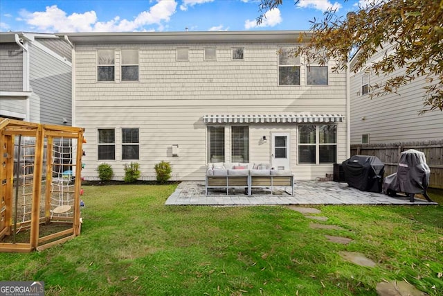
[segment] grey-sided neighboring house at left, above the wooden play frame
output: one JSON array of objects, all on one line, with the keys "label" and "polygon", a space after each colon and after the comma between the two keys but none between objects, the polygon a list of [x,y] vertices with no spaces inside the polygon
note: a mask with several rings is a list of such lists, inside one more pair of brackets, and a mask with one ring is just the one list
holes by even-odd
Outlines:
[{"label": "grey-sided neighboring house at left, above the wooden play frame", "polygon": [[0,33],[0,117],[71,125],[71,53],[53,34]]}]

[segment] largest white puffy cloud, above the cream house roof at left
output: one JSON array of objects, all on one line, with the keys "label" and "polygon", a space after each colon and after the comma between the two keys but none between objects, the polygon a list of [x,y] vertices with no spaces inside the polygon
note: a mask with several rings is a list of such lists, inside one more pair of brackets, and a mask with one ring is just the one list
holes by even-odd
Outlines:
[{"label": "largest white puffy cloud, above the cream house roof at left", "polygon": [[[146,31],[144,26],[157,25],[164,28],[163,21],[170,21],[174,15],[176,1],[159,0],[150,10],[143,11],[133,20],[120,19],[119,16],[109,21],[98,21],[96,12],[91,10],[84,13],[66,12],[57,6],[47,6],[43,12],[27,12],[22,10],[18,20],[26,21],[37,31],[44,32],[123,32]],[[151,31],[152,29],[150,29]]]}]

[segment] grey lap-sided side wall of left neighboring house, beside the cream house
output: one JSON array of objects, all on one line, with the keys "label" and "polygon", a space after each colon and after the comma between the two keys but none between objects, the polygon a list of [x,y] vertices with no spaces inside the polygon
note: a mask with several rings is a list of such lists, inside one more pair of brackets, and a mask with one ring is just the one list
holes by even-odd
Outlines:
[{"label": "grey lap-sided side wall of left neighboring house, beside the cream house", "polygon": [[71,65],[30,44],[30,121],[71,124]]}]

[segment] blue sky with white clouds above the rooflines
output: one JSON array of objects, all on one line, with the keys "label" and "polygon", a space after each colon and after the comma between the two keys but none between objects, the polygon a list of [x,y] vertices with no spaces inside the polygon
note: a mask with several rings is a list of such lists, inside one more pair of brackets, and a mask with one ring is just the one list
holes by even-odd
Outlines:
[{"label": "blue sky with white clouds above the rooflines", "polygon": [[1,0],[0,31],[134,32],[308,30],[328,7],[346,15],[370,0],[293,0],[266,12],[258,0]]}]

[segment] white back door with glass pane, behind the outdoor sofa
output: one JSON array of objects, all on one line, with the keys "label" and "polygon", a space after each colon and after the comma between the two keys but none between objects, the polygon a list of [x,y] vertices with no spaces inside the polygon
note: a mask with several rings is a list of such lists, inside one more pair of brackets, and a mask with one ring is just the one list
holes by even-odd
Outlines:
[{"label": "white back door with glass pane, behind the outdoor sofa", "polygon": [[290,170],[289,132],[272,133],[271,162],[275,170]]}]

